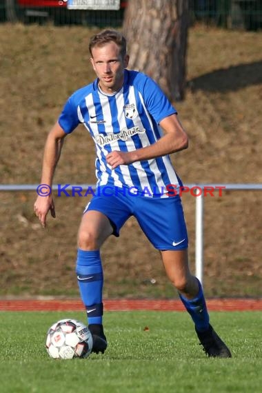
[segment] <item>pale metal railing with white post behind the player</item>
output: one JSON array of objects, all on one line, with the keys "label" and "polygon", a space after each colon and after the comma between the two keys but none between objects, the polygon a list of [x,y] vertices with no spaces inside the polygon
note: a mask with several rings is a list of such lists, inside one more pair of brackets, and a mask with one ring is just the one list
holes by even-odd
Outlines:
[{"label": "pale metal railing with white post behind the player", "polygon": [[[0,185],[0,191],[36,191],[36,184],[2,184]],[[62,186],[62,185],[61,185]],[[70,185],[68,190],[73,187],[80,187],[81,190],[88,190],[92,188],[95,190],[96,185],[94,184],[80,184],[80,185]],[[203,283],[203,268],[204,268],[204,190],[208,188],[209,190],[218,191],[239,191],[239,190],[253,190],[261,191],[261,184],[186,184],[184,187],[188,187],[190,190],[197,190],[196,208],[195,208],[195,274],[196,277]],[[52,190],[58,190],[58,185],[53,185]]]}]

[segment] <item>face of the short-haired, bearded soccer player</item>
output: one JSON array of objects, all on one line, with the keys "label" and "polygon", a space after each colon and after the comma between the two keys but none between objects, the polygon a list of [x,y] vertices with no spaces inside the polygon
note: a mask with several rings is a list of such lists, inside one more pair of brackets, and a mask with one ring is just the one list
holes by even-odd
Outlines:
[{"label": "face of the short-haired, bearded soccer player", "polygon": [[113,41],[92,48],[90,59],[94,72],[99,78],[99,86],[105,93],[117,92],[123,85],[123,70],[128,66],[129,57],[121,56],[120,48]]}]

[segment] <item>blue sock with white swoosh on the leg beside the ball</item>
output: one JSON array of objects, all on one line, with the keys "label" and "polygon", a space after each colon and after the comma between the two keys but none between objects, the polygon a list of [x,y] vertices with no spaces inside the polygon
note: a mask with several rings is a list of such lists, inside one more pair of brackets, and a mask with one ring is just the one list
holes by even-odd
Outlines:
[{"label": "blue sock with white swoosh on the leg beside the ball", "polygon": [[103,268],[99,250],[77,250],[77,280],[88,324],[102,323]]}]

